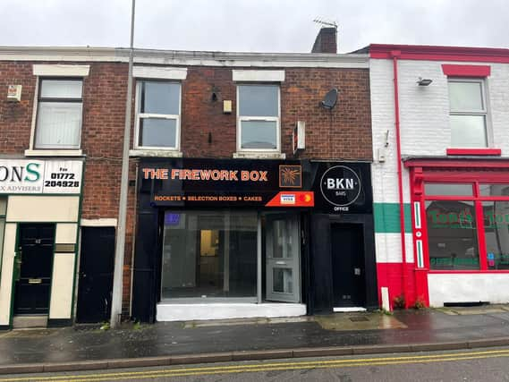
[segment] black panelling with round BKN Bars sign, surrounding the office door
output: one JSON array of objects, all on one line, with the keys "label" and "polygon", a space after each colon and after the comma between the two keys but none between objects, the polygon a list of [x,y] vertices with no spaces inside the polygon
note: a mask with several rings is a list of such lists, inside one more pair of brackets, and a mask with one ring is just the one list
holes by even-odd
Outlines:
[{"label": "black panelling with round BKN Bars sign, surrounding the office door", "polygon": [[[311,162],[315,207],[310,214],[310,314],[334,307],[332,225],[361,225],[363,233],[366,308],[378,307],[373,201],[369,163]],[[336,194],[337,193],[337,194]]]}]

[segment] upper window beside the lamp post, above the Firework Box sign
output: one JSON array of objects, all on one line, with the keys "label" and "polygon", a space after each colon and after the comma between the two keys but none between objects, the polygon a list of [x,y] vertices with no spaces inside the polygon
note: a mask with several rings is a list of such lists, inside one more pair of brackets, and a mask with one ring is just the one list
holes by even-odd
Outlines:
[{"label": "upper window beside the lamp post, above the Firework Box sign", "polygon": [[136,149],[180,148],[181,83],[137,82]]}]

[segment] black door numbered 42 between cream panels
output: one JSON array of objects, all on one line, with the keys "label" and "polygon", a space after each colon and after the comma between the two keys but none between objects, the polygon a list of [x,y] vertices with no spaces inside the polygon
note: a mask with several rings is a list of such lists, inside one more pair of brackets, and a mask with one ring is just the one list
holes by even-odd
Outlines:
[{"label": "black door numbered 42 between cream panels", "polygon": [[14,314],[47,314],[53,267],[54,224],[21,224],[15,264]]}]

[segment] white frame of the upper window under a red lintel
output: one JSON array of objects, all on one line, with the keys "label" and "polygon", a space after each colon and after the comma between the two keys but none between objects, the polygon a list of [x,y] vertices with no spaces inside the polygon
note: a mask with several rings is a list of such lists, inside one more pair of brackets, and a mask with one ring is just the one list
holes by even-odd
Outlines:
[{"label": "white frame of the upper window under a red lintel", "polygon": [[[481,111],[471,111],[471,110],[452,110],[451,107],[451,94],[449,92],[449,83],[456,82],[456,83],[479,83],[480,84],[480,93],[481,93],[481,102],[482,102],[482,109]],[[476,148],[471,149],[487,149],[492,146],[492,139],[491,139],[491,119],[490,119],[490,113],[489,113],[489,105],[488,105],[488,84],[486,78],[470,78],[470,77],[447,77],[447,98],[449,103],[449,129],[451,131],[451,143],[450,147],[454,149],[463,149],[465,148],[464,145],[453,145],[452,138],[453,138],[453,130],[450,123],[450,117],[452,115],[481,115],[484,116],[484,133],[486,137],[486,145],[485,146],[479,146]]]}]

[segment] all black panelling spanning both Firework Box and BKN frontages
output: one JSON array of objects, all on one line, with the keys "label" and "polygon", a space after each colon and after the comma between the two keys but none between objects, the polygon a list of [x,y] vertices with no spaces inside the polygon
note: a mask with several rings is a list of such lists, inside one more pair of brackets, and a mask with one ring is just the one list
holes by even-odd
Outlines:
[{"label": "all black panelling spanning both Firework Box and BKN frontages", "polygon": [[[307,222],[308,219],[310,222],[309,230],[306,224],[302,224],[301,231],[305,242],[302,246],[302,293],[306,293],[308,312],[326,313],[332,310],[331,225],[335,223],[362,225],[367,280],[366,301],[368,307],[378,305],[372,191],[368,163],[152,158],[141,160],[139,166],[139,208],[132,292],[133,318],[148,322],[154,322],[156,318],[162,247],[160,208],[269,210],[274,209],[267,207],[269,200],[279,198],[281,193],[288,195],[294,193],[297,195],[295,200],[298,200],[299,191],[313,192],[314,207],[279,205],[277,208],[306,212],[302,215],[303,222]],[[165,176],[172,178],[173,169],[223,170],[228,171],[228,178],[233,179],[191,180],[191,176],[203,175],[199,173],[185,175],[182,172],[174,173],[174,179],[155,179]],[[149,170],[166,171],[164,174],[160,172],[156,174]],[[230,171],[237,173],[232,174]],[[242,171],[246,171],[247,174],[253,172],[255,178],[258,174],[261,179],[242,180]],[[287,171],[297,171],[297,176],[284,178]],[[178,179],[180,176],[187,178]],[[219,197],[221,199],[216,199]],[[228,199],[230,197],[233,199]]]}]

